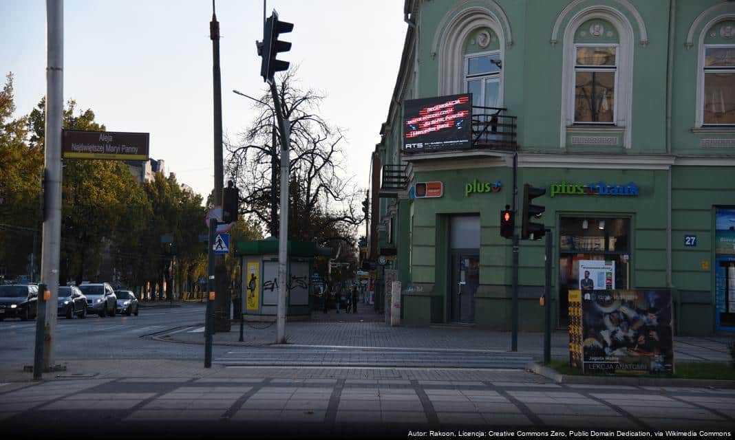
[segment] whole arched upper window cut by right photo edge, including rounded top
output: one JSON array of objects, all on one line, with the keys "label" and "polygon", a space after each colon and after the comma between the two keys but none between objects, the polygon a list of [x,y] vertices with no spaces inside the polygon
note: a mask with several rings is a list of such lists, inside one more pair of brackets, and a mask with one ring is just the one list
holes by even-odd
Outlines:
[{"label": "whole arched upper window cut by right photo edge, including rounded top", "polygon": [[700,40],[700,125],[735,126],[735,20],[718,21]]}]

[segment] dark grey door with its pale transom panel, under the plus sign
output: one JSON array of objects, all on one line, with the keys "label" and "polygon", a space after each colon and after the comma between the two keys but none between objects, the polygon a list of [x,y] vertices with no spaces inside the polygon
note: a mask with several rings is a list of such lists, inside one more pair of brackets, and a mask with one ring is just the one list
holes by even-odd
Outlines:
[{"label": "dark grey door with its pale transom panel, under the plus sign", "polygon": [[475,322],[475,294],[480,285],[480,216],[451,217],[448,257],[447,319]]}]

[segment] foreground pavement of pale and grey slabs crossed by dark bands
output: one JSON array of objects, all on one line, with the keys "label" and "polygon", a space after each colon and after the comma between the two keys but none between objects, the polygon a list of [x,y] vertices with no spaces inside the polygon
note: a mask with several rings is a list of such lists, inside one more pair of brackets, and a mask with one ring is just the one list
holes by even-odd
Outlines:
[{"label": "foreground pavement of pale and grey slabs crossed by dark bands", "polygon": [[[198,374],[2,383],[0,423],[10,438],[40,436],[51,426],[54,436],[85,437],[91,429],[112,437],[176,438],[238,432],[406,438],[409,430],[556,428],[731,433],[735,427],[732,389],[564,385],[501,369],[191,369]],[[84,429],[75,415],[83,416]]]}]

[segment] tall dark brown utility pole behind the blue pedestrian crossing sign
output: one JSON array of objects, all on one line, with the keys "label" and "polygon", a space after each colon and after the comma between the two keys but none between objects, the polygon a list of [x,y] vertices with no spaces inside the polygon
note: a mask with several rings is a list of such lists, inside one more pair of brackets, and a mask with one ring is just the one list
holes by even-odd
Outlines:
[{"label": "tall dark brown utility pole behind the blue pedestrian crossing sign", "polygon": [[[215,148],[215,205],[222,203],[224,187],[222,159],[222,81],[220,73],[220,24],[215,14],[215,0],[212,0],[212,21],[209,23],[209,38],[212,39],[212,77],[214,80],[214,148]],[[209,252],[212,242],[209,242]],[[230,331],[229,295],[226,293],[225,257],[215,256],[215,326],[214,331]]]}]

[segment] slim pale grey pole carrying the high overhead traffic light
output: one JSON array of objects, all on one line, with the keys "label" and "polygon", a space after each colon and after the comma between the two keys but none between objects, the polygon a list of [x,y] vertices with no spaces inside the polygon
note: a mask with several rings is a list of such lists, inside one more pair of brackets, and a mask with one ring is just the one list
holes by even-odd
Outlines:
[{"label": "slim pale grey pole carrying the high overhead traffic light", "polygon": [[281,126],[281,224],[278,239],[278,317],[276,318],[277,344],[286,342],[286,289],[287,289],[287,247],[288,247],[288,174],[290,168],[290,122],[281,115],[281,102],[276,89],[276,82],[270,78],[270,93],[273,95],[273,107],[276,108],[276,118]]}]

